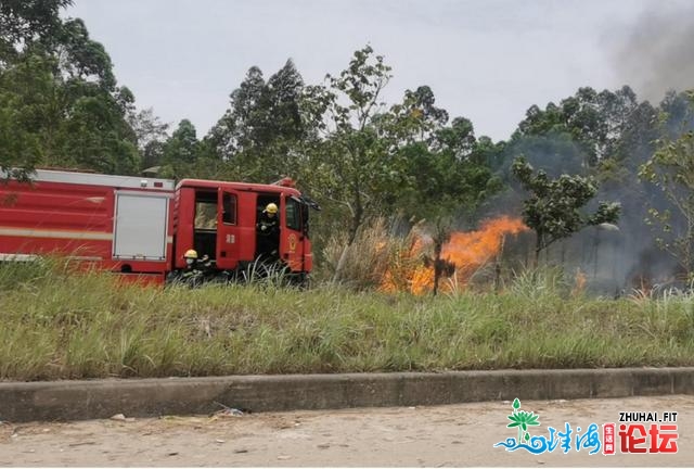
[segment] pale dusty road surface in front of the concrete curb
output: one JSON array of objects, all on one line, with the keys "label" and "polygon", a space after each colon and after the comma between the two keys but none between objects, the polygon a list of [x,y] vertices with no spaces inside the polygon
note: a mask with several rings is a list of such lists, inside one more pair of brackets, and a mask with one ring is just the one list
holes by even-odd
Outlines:
[{"label": "pale dusty road surface in front of the concrete curb", "polygon": [[2,466],[692,466],[694,396],[527,401],[548,426],[574,430],[618,422],[619,411],[677,411],[677,454],[604,456],[571,447],[563,454],[513,453],[494,443],[510,402],[440,407],[368,408],[243,416],[163,417],[0,426]]}]

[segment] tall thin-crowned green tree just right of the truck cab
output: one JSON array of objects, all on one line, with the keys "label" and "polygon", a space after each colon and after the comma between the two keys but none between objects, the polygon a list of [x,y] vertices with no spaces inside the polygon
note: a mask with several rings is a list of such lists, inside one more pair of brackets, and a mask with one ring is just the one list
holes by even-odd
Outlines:
[{"label": "tall thin-crowned green tree just right of the truck cab", "polygon": [[[380,116],[381,93],[390,79],[384,58],[370,46],[355,52],[338,76],[327,76],[329,87],[318,90],[327,107],[329,136],[316,155],[320,161],[323,195],[348,210],[347,245],[383,202],[388,187],[402,182],[394,152],[380,129],[393,127],[395,116]],[[391,134],[391,132],[390,132]],[[339,270],[339,269],[338,269]]]}]

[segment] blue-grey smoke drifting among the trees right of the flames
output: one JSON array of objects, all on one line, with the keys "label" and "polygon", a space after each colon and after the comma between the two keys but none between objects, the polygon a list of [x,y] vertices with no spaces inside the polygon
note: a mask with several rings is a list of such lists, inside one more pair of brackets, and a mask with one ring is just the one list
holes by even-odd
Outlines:
[{"label": "blue-grey smoke drifting among the trees right of the flames", "polygon": [[[632,113],[632,118],[640,117]],[[614,226],[587,227],[552,244],[540,257],[541,265],[561,266],[569,277],[580,275],[588,290],[599,295],[619,296],[631,293],[633,289],[679,286],[674,283],[677,259],[656,243],[656,238],[663,232],[659,227],[650,226],[644,220],[648,207],[664,210],[669,206],[663,191],[637,177],[637,167],[653,155],[653,143],[650,140],[628,140],[624,151],[628,157],[617,169],[619,176],[603,181],[595,198],[581,210],[590,214],[594,213],[599,201],[619,202],[622,212],[618,229]],[[524,154],[536,170],[543,169],[551,178],[561,174],[586,174],[582,162],[587,161],[588,154],[578,144],[567,141],[566,136],[550,132],[512,141],[505,148],[500,167],[512,189],[490,200],[484,207],[483,217],[519,216],[527,194],[510,174],[510,162],[518,154]],[[528,266],[534,243],[532,236],[509,238],[504,261],[520,261]]]}]

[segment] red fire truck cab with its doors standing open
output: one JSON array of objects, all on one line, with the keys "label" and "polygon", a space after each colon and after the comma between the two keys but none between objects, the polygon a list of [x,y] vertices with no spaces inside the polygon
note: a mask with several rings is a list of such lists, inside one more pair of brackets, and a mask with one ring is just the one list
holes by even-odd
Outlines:
[{"label": "red fire truck cab with its doors standing open", "polygon": [[174,269],[185,267],[183,254],[194,249],[208,256],[216,269],[246,269],[270,253],[261,252],[256,226],[262,211],[274,203],[279,217],[277,256],[288,271],[306,274],[312,268],[308,237],[310,202],[291,187],[275,185],[183,179],[176,188]]}]

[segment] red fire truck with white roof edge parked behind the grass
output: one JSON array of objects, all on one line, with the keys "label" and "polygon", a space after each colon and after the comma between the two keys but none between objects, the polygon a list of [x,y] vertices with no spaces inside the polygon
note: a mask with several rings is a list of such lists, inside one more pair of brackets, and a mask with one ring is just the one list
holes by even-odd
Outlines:
[{"label": "red fire truck with white roof edge parked behind the grass", "polygon": [[39,169],[31,182],[0,183],[0,261],[56,253],[163,282],[185,268],[183,254],[193,249],[209,258],[213,277],[233,277],[266,254],[258,252],[256,223],[269,203],[279,207],[275,258],[303,279],[312,267],[309,207],[319,207],[291,179],[273,185],[183,179],[177,185]]}]

